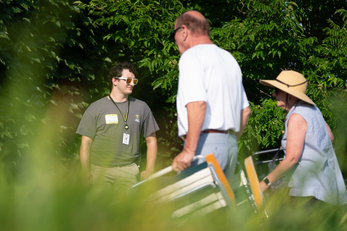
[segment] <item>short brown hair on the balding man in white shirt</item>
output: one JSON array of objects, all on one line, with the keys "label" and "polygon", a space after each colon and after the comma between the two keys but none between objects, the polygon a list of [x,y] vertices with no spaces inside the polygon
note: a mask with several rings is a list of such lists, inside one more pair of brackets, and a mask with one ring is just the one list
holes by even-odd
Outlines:
[{"label": "short brown hair on the balding man in white shirt", "polygon": [[210,35],[210,23],[207,19],[200,20],[190,14],[182,14],[176,22],[177,28],[186,25],[194,35]]}]

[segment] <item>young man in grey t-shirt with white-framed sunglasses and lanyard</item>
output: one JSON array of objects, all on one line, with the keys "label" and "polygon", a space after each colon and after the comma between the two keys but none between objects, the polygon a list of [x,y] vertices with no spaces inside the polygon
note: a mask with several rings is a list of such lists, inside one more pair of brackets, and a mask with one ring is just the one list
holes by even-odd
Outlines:
[{"label": "young man in grey t-shirt with white-framed sunglasses and lanyard", "polygon": [[111,94],[92,103],[77,128],[76,133],[82,135],[82,183],[93,186],[94,196],[122,197],[137,183],[139,170],[135,159],[139,155],[141,135],[147,143],[147,165],[141,179],[154,172],[155,131],[159,127],[147,104],[129,96],[138,82],[135,74],[132,63],[114,65],[108,76]]}]

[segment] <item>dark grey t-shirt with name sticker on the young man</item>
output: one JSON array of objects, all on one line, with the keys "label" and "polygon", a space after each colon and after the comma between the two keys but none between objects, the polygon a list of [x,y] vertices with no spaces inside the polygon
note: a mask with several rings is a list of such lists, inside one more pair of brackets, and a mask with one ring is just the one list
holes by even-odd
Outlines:
[{"label": "dark grey t-shirt with name sticker on the young man", "polygon": [[[117,103],[104,97],[92,103],[85,111],[76,133],[93,139],[91,147],[91,165],[102,167],[121,167],[133,163],[139,155],[139,138],[148,137],[158,131],[151,109],[141,100],[129,97],[130,105],[127,117],[129,144],[123,143],[128,101]],[[118,120],[118,122],[117,122]]]}]

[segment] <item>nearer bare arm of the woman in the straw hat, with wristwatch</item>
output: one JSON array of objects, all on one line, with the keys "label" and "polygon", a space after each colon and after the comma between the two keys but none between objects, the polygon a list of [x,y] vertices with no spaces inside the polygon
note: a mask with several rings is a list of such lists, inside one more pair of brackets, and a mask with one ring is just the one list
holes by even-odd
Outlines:
[{"label": "nearer bare arm of the woman in the straw hat, with wristwatch", "polygon": [[[287,127],[286,158],[267,176],[271,183],[284,176],[298,162],[303,152],[307,123],[299,114],[289,117]],[[264,181],[260,182],[263,192],[269,187]]]}]

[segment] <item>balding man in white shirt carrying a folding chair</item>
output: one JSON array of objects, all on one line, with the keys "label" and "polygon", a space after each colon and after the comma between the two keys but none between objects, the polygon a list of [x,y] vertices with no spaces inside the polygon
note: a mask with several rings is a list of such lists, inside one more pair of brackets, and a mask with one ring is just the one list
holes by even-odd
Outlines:
[{"label": "balding man in white shirt carrying a folding chair", "polygon": [[178,68],[178,135],[183,151],[172,163],[176,171],[191,166],[195,155],[214,153],[229,181],[235,172],[238,146],[251,113],[234,57],[214,45],[210,26],[197,11],[178,17],[171,37],[181,54]]}]

